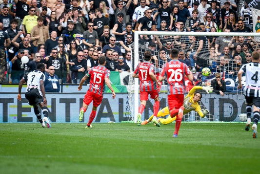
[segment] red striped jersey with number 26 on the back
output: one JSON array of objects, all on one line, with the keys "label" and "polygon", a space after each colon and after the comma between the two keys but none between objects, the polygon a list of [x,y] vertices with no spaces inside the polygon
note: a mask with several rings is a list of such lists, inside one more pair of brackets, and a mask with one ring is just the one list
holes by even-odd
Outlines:
[{"label": "red striped jersey with number 26 on the back", "polygon": [[168,95],[185,94],[184,75],[190,73],[189,67],[178,60],[171,60],[164,64],[160,76],[167,78]]}]

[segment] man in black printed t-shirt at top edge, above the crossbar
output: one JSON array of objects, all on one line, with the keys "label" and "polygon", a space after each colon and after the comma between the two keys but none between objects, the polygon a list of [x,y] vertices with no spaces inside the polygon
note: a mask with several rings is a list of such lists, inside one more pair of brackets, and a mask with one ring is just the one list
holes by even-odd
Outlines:
[{"label": "man in black printed t-shirt at top edge, above the crossbar", "polygon": [[172,8],[168,7],[168,0],[161,0],[162,7],[153,15],[153,20],[156,20],[156,17],[159,15],[160,20],[166,21],[166,27],[172,28],[173,26],[173,17],[170,15],[172,13]]}]

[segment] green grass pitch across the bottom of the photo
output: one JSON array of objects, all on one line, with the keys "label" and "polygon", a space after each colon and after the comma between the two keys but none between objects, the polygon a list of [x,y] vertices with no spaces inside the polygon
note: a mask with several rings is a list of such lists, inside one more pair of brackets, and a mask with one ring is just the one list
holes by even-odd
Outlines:
[{"label": "green grass pitch across the bottom of the photo", "polygon": [[0,174],[258,173],[260,137],[240,123],[0,124]]}]

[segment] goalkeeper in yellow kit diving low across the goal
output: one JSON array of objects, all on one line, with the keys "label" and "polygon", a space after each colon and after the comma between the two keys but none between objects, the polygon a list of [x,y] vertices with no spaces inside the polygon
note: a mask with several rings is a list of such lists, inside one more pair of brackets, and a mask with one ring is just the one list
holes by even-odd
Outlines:
[{"label": "goalkeeper in yellow kit diving low across the goal", "polygon": [[[195,110],[196,112],[199,113],[201,118],[204,118],[209,113],[208,109],[201,109],[200,105],[198,104],[198,102],[202,98],[202,94],[199,91],[196,91],[196,90],[199,90],[199,89],[205,90],[207,93],[209,93],[209,92],[212,92],[213,87],[211,87],[211,86],[206,86],[206,87],[194,86],[190,90],[188,95],[184,98],[183,115],[192,111],[192,110]],[[158,112],[157,117],[163,117],[163,116],[166,116],[168,114],[170,114],[169,108],[165,107]],[[173,121],[176,120],[177,114],[173,115],[172,117],[171,117],[171,115],[169,115],[166,119],[158,118],[158,121],[163,125],[167,125],[167,124],[172,123]],[[141,125],[146,125],[147,123],[151,122],[153,117],[154,117],[154,115],[152,115],[148,120],[143,121],[141,123]]]}]

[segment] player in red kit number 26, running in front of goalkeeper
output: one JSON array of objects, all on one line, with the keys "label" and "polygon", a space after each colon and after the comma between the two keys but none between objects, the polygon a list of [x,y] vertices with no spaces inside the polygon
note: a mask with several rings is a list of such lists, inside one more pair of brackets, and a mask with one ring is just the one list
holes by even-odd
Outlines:
[{"label": "player in red kit number 26, running in front of goalkeeper", "polygon": [[173,137],[178,137],[184,110],[184,107],[182,106],[185,93],[184,75],[186,75],[190,81],[193,80],[193,75],[186,64],[178,61],[178,49],[173,48],[170,57],[172,60],[163,65],[159,80],[163,81],[167,78],[170,115],[171,117],[174,117],[174,115],[178,113]]}]

